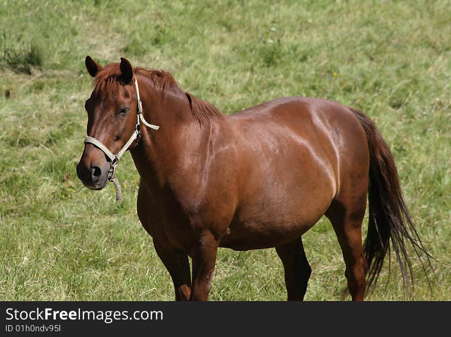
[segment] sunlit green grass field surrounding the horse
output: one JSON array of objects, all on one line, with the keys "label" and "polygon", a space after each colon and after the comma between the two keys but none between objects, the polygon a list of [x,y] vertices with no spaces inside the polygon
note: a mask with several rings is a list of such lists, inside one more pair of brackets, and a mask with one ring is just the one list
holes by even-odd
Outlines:
[{"label": "sunlit green grass field surrounding the horse", "polygon": [[[371,116],[398,165],[429,252],[451,264],[451,2],[118,1],[0,3],[0,300],[173,300],[170,276],[136,215],[139,175],[83,187],[75,172],[84,102],[101,65],[171,71],[181,88],[231,114],[273,98],[330,98]],[[8,91],[8,92],[7,92]],[[364,223],[366,227],[366,221]],[[330,223],[303,236],[306,300],[347,300]],[[368,300],[404,300],[385,265]],[[451,300],[451,268],[419,262],[416,300]],[[211,300],[285,300],[274,249],[220,249]],[[411,299],[407,297],[407,299]]]}]

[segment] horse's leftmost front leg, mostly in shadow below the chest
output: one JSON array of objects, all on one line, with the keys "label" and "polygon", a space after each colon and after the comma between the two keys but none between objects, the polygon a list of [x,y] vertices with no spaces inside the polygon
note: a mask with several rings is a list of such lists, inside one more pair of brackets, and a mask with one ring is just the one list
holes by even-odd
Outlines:
[{"label": "horse's leftmost front leg, mostly in shadow below the chest", "polygon": [[191,273],[188,255],[179,250],[171,249],[153,240],[155,250],[161,262],[168,269],[174,283],[175,300],[188,301],[191,294]]}]

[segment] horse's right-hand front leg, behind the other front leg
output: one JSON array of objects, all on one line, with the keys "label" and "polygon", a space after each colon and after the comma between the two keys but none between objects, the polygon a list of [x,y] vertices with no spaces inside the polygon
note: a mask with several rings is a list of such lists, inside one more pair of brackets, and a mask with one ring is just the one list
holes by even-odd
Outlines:
[{"label": "horse's right-hand front leg, behind the other front leg", "polygon": [[190,249],[193,260],[193,282],[190,301],[207,301],[216,264],[219,241],[210,231],[201,233]]}]

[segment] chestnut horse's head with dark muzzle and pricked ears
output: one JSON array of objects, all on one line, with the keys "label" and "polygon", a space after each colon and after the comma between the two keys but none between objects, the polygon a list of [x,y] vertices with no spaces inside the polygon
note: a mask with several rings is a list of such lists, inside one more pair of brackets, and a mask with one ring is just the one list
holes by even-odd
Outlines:
[{"label": "chestnut horse's head with dark muzzle and pricked ears", "polygon": [[[94,190],[100,190],[107,184],[112,161],[107,155],[108,150],[113,154],[121,149],[127,150],[129,146],[126,145],[132,140],[137,124],[133,68],[125,58],[120,60],[120,64],[109,64],[104,68],[90,56],[85,60],[95,84],[91,97],[85,103],[88,113],[87,134],[94,139],[94,143],[85,140],[77,175],[86,187]],[[95,145],[95,141],[100,145]],[[134,144],[132,142],[129,145],[133,147]],[[107,151],[101,150],[101,145]]]}]

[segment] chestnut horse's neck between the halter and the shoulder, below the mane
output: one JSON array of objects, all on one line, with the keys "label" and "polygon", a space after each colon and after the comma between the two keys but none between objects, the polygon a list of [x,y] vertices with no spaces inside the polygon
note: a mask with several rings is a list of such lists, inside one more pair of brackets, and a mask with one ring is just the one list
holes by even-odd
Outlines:
[{"label": "chestnut horse's neck between the halter and the shoulder, below the mane", "polygon": [[[171,176],[183,171],[201,169],[196,166],[201,166],[212,129],[217,125],[204,123],[200,127],[185,94],[167,95],[162,101],[151,98],[141,97],[144,116],[147,122],[160,128],[153,130],[141,125],[140,140],[131,154],[141,180],[155,187],[167,184]],[[158,106],[155,102],[159,102]]]}]

